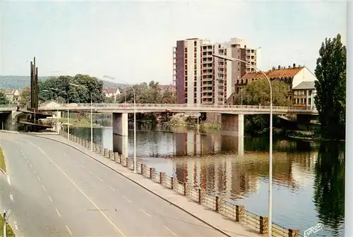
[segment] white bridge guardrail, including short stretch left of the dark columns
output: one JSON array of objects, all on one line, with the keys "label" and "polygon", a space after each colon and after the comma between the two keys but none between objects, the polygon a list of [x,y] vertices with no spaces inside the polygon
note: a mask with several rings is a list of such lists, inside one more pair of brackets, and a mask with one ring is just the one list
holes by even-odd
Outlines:
[{"label": "white bridge guardrail, including short stretch left of the dark columns", "polygon": [[[16,104],[0,104],[0,110],[16,110]],[[53,111],[59,110],[90,110],[91,104],[40,104],[39,110]],[[92,104],[95,110],[133,110],[134,104]],[[136,104],[136,110],[150,110],[150,111],[270,111],[270,106],[263,105],[218,105],[218,104]],[[278,107],[273,106],[273,111],[292,111],[292,112],[309,112],[309,114],[317,114],[316,109],[310,107]]]}]

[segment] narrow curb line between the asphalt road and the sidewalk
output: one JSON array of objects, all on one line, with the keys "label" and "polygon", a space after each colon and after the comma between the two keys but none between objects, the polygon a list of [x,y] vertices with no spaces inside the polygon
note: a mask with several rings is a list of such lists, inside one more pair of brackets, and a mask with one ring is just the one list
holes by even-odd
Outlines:
[{"label": "narrow curb line between the asphalt road and the sidewalk", "polygon": [[[169,204],[173,205],[174,207],[177,207],[179,209],[181,209],[182,211],[186,212],[187,214],[191,215],[191,217],[194,217],[196,219],[198,219],[199,221],[202,221],[203,223],[207,224],[208,226],[212,227],[213,229],[219,231],[220,233],[223,233],[225,236],[228,236],[228,237],[234,237],[232,235],[230,235],[229,233],[227,233],[226,231],[223,231],[222,229],[218,228],[217,226],[214,226],[213,224],[210,224],[208,221],[205,221],[204,219],[202,219],[201,217],[198,217],[196,216],[196,214],[193,214],[192,212],[189,212],[187,209],[185,209],[184,207],[181,207],[180,205],[178,205],[177,203],[175,202],[172,202],[171,200],[168,200],[166,197],[163,197],[162,195],[159,195],[158,193],[155,193],[155,191],[151,190],[150,188],[147,188],[145,186],[143,186],[142,184],[138,183],[137,181],[134,181],[132,178],[126,176],[125,174],[121,173],[120,171],[114,169],[113,167],[107,165],[107,164],[104,164],[104,162],[101,162],[100,160],[96,159],[95,157],[92,157],[90,154],[88,154],[88,152],[86,152],[86,148],[85,150],[80,150],[76,147],[74,147],[73,145],[70,145],[66,142],[61,142],[59,140],[55,140],[55,139],[52,139],[52,138],[45,138],[45,137],[42,137],[40,135],[35,135],[35,134],[25,134],[25,135],[32,135],[32,136],[35,136],[37,138],[44,138],[44,139],[47,139],[47,140],[52,140],[54,142],[60,142],[61,144],[64,144],[64,145],[67,145],[68,147],[72,147],[73,149],[77,150],[78,152],[81,152],[85,155],[87,155],[88,157],[90,157],[91,159],[94,159],[96,162],[99,162],[100,164],[106,166],[107,168],[111,169],[112,171],[115,171],[117,174],[120,174],[121,176],[123,176],[124,178],[127,178],[129,181],[132,181],[133,183],[136,183],[138,186],[140,186],[141,188],[145,189],[145,190],[148,190],[148,192],[156,195],[157,197],[160,197],[162,200],[164,200],[165,202],[168,202]],[[154,183],[154,182],[152,182]],[[243,235],[244,236],[244,235]]]}]

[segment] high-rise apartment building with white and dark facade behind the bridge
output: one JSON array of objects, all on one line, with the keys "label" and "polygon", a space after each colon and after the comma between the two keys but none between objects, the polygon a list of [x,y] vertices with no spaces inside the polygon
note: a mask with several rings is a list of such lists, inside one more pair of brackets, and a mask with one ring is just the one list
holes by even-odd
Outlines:
[{"label": "high-rise apartment building with white and dark facade behind the bridge", "polygon": [[222,54],[257,65],[256,49],[243,39],[211,43],[206,39],[184,39],[173,48],[173,83],[178,104],[225,104],[235,91],[235,83],[254,68],[237,61],[213,57]]}]

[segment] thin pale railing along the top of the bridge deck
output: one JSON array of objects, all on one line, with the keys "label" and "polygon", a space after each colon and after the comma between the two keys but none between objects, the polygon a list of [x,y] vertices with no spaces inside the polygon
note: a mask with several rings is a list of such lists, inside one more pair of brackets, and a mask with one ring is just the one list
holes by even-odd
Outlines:
[{"label": "thin pale railing along the top of the bridge deck", "polygon": [[[71,109],[90,109],[91,104],[53,104],[51,107],[47,107],[47,105],[40,104],[40,109],[56,109],[56,108],[71,108]],[[133,109],[134,104],[92,104],[92,107],[102,108],[102,109]],[[270,106],[263,105],[218,105],[218,104],[136,104],[136,108],[164,108],[164,109],[172,109],[172,108],[208,108],[208,109],[263,109],[269,110]],[[287,110],[287,111],[316,111],[316,109],[311,109],[310,107],[279,107],[273,106],[274,110]]]}]

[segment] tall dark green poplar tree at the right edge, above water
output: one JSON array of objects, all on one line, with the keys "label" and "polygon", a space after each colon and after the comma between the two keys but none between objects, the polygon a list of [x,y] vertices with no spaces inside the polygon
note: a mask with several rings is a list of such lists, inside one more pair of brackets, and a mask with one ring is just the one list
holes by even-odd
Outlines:
[{"label": "tall dark green poplar tree at the right edge, above water", "polygon": [[346,54],[341,35],[325,39],[316,61],[315,104],[323,138],[345,138]]}]

